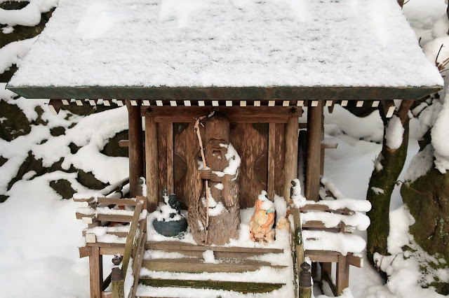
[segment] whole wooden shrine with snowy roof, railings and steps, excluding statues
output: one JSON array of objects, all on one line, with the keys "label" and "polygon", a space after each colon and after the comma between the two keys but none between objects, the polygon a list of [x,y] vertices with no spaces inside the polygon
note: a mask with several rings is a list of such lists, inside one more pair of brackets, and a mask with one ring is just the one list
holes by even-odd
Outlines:
[{"label": "whole wooden shrine with snowy roof, railings and steps, excluding statues", "polygon": [[[326,203],[335,196],[321,178],[324,154],[337,144],[323,138],[323,111],[354,101],[357,107],[371,105],[391,118],[394,100],[427,97],[441,90],[443,80],[424,57],[396,0],[382,3],[388,13],[370,9],[371,0],[360,0],[358,6],[306,2],[310,9],[282,1],[212,1],[183,10],[160,0],[116,1],[110,6],[95,0],[60,0],[6,88],[28,99],[50,99],[54,114],[71,104],[128,109],[129,136],[121,145],[129,150],[129,180],[95,196],[74,197],[83,204],[76,218],[88,225],[79,252],[89,257],[91,297],[154,297],[157,289],[169,287],[241,293],[293,289],[295,297],[310,297],[304,257],[314,263],[313,275],[321,263],[322,276],[315,278],[328,281],[335,295],[349,286],[349,265],[361,266],[358,253],[363,248],[339,252],[326,237],[358,237],[351,234],[355,228],[349,219],[366,208],[332,208]],[[104,26],[86,17],[92,5],[106,18]],[[312,22],[314,15],[319,19]],[[373,17],[382,20],[388,32],[375,34],[382,31],[377,23],[366,22]],[[289,206],[293,216],[283,248],[156,241],[149,233],[147,218],[161,203],[165,187],[189,206],[201,147],[194,125],[212,111],[229,120],[227,141],[241,158],[239,187],[234,188],[239,189],[240,208],[255,206],[262,191],[269,199],[283,197]],[[204,134],[202,127],[199,130]],[[301,205],[295,202],[297,178],[304,183]],[[320,190],[326,192],[325,200]],[[341,221],[329,227],[314,220],[311,211],[337,215]],[[156,250],[182,257],[157,258]],[[217,262],[206,262],[205,252]],[[289,252],[288,264],[253,260]],[[103,255],[116,255],[107,278]],[[243,275],[239,281],[154,277],[161,271],[213,276],[262,267],[274,270],[273,276],[283,271],[291,277],[263,282]],[[143,285],[153,292],[142,292]]]}]

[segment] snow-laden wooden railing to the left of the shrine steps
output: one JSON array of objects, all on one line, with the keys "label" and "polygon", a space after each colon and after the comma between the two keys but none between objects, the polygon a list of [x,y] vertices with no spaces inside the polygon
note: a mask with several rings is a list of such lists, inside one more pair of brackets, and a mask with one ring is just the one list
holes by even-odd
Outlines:
[{"label": "snow-laden wooden railing to the left of the shrine steps", "polygon": [[[125,297],[125,293],[126,297],[135,297],[138,278],[134,276],[140,271],[147,241],[147,199],[141,196],[122,198],[129,192],[128,185],[126,178],[98,192],[75,194],[73,198],[83,203],[76,210],[76,218],[88,224],[88,228],[83,229],[83,246],[79,253],[80,257],[89,257],[91,295],[95,297],[112,295],[105,291],[111,282],[115,294],[122,292],[121,296],[113,297]],[[140,187],[145,188],[145,183]],[[142,194],[142,189],[138,193]],[[114,270],[103,280],[102,255],[123,255],[119,257],[123,281],[119,272],[114,275]]]}]

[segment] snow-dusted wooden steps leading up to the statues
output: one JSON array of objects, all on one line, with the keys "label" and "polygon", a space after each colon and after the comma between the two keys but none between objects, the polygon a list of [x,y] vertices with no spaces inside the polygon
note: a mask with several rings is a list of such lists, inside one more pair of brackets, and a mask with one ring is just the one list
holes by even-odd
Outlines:
[{"label": "snow-dusted wooden steps leading up to the statues", "polygon": [[[147,285],[154,288],[196,288],[210,290],[230,290],[234,292],[263,293],[272,292],[282,288],[285,283],[260,283],[245,281],[246,278],[239,278],[239,281],[218,281],[213,279],[199,279],[201,273],[230,273],[241,274],[248,271],[257,271],[262,267],[272,269],[285,269],[287,266],[272,265],[269,262],[253,260],[253,257],[264,254],[282,254],[283,249],[278,248],[243,248],[243,247],[216,247],[216,246],[196,246],[178,241],[147,242],[145,246],[148,250],[145,257],[151,257],[156,251],[165,253],[178,253],[183,257],[178,258],[150,258],[142,262],[142,274],[139,279],[140,285]],[[207,250],[213,252],[215,262],[206,262],[203,253]],[[145,270],[145,269],[147,270]],[[175,272],[189,275],[189,278],[152,278],[147,272]],[[138,288],[139,297],[152,297],[146,295],[151,291],[145,288]]]}]

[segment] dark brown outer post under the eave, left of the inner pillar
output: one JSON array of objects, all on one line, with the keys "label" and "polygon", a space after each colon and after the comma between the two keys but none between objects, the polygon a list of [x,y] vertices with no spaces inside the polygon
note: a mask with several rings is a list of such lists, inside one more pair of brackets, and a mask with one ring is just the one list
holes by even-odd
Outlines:
[{"label": "dark brown outer post under the eave, left of the inner pillar", "polygon": [[143,176],[143,153],[142,153],[142,116],[140,106],[128,107],[128,139],[129,139],[129,195],[134,198],[137,194],[139,178]]}]

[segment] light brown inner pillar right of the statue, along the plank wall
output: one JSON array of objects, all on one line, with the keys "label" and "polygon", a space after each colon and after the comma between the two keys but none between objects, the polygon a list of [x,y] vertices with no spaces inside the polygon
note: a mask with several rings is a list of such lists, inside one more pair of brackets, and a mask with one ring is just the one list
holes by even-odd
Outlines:
[{"label": "light brown inner pillar right of the statue, along the plank wall", "polygon": [[300,124],[297,117],[288,118],[286,124],[286,150],[283,171],[283,198],[290,198],[290,181],[297,178],[297,144]]}]

